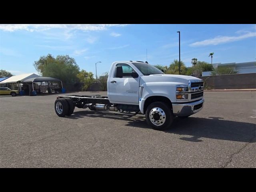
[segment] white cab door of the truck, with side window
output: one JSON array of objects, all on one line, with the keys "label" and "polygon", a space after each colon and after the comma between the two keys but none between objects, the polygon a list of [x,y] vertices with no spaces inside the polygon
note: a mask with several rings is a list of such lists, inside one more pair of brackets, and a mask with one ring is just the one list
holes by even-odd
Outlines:
[{"label": "white cab door of the truck, with side window", "polygon": [[[122,66],[123,77],[116,77],[116,67]],[[111,103],[139,104],[139,82],[140,76],[132,77],[136,72],[132,66],[126,63],[117,63],[113,66],[108,87],[108,99]]]}]

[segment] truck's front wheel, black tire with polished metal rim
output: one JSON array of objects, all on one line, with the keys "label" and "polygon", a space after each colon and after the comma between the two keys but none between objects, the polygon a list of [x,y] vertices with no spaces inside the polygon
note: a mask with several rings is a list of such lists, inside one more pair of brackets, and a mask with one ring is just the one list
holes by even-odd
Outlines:
[{"label": "truck's front wheel, black tire with polished metal rim", "polygon": [[147,107],[146,122],[156,130],[166,130],[170,128],[174,120],[171,106],[164,102],[154,102]]}]

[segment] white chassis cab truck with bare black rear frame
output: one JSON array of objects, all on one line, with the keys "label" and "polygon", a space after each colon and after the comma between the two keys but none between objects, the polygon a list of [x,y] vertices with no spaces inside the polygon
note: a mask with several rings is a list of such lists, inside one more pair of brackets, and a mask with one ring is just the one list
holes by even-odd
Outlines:
[{"label": "white chassis cab truck with bare black rear frame", "polygon": [[[108,74],[108,96],[58,96],[54,109],[69,116],[74,108],[110,110],[146,115],[156,130],[171,128],[175,116],[188,117],[204,105],[203,80],[185,75],[164,74],[148,62],[114,62]],[[133,113],[132,113],[133,112]]]}]

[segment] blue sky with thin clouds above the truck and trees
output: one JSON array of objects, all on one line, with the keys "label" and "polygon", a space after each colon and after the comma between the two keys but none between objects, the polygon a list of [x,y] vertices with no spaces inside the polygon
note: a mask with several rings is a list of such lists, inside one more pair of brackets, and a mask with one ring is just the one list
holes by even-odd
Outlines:
[{"label": "blue sky with thin clouds above the truck and trees", "polygon": [[114,61],[169,65],[178,59],[213,63],[256,61],[256,24],[0,24],[0,69],[36,72],[33,63],[48,53],[68,54],[80,69],[98,76]]}]

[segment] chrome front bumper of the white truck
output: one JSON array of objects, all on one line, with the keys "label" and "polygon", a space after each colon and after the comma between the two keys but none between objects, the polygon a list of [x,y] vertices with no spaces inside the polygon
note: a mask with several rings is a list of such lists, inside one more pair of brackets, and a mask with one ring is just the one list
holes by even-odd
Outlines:
[{"label": "chrome front bumper of the white truck", "polygon": [[189,103],[173,103],[172,112],[175,116],[190,116],[204,107],[204,98]]}]

